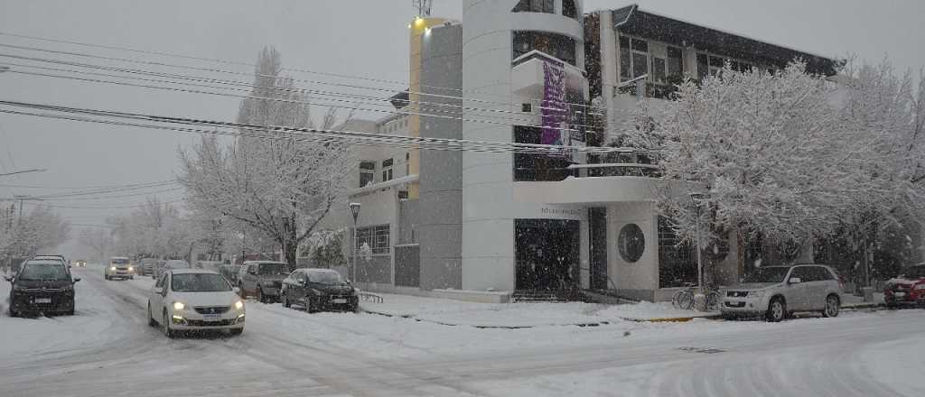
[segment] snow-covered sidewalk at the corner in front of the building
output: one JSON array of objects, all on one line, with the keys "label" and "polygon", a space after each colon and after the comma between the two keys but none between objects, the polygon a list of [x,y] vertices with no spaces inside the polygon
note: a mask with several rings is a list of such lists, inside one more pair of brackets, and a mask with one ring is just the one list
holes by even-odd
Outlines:
[{"label": "snow-covered sidewalk at the corner in front of the building", "polygon": [[412,295],[376,295],[382,296],[382,303],[362,301],[360,307],[369,313],[479,328],[595,326],[623,320],[687,320],[716,315],[679,310],[670,303],[617,306],[580,302],[486,304]]}]

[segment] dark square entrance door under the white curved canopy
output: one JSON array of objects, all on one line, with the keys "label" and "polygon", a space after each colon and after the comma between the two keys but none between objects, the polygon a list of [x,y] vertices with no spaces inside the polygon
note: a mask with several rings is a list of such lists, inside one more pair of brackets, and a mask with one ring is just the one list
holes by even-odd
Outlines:
[{"label": "dark square entrance door under the white curved canopy", "polygon": [[514,222],[517,290],[559,291],[578,284],[578,221]]}]

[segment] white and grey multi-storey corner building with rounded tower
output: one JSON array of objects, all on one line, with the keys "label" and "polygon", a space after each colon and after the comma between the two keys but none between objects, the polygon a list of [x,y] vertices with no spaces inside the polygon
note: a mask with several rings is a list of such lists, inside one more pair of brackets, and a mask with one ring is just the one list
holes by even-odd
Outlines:
[{"label": "white and grey multi-storey corner building with rounded tower", "polygon": [[[461,21],[416,18],[410,88],[399,115],[346,130],[423,138],[602,146],[640,95],[734,68],[780,69],[795,58],[833,74],[835,61],[627,6],[585,13],[580,0],[465,0]],[[598,98],[611,124],[593,128]],[[606,290],[661,300],[696,281],[692,250],[654,208],[666,182],[644,155],[561,155],[358,147],[350,199],[326,227],[352,227],[372,248],[357,259],[370,290],[443,290],[494,299],[516,291]],[[736,245],[708,258],[737,279]],[[355,249],[347,247],[346,252]],[[721,281],[722,280],[718,280]]]}]

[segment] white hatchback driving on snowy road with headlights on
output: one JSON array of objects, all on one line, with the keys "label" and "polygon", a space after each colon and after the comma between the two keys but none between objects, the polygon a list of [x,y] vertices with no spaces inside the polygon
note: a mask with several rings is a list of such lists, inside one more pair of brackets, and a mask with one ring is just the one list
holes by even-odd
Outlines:
[{"label": "white hatchback driving on snowy road with headlights on", "polygon": [[244,331],[244,301],[215,271],[174,269],[157,279],[148,296],[148,324],[168,338],[178,331]]}]

